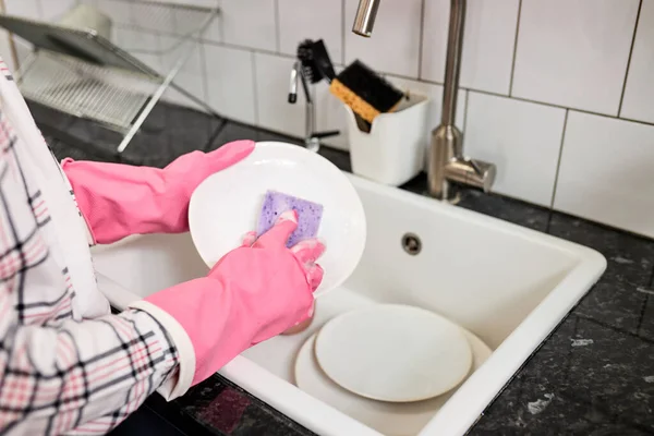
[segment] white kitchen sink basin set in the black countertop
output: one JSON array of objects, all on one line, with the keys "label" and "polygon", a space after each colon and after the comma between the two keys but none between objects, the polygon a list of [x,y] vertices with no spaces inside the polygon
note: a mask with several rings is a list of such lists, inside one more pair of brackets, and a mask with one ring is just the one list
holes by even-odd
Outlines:
[{"label": "white kitchen sink basin set in the black countertop", "polygon": [[[338,404],[295,387],[295,355],[312,332],[346,311],[377,303],[425,307],[459,323],[493,350],[417,433],[461,435],[597,281],[606,261],[578,244],[349,177],[367,216],[358,269],[317,301],[308,330],[261,343],[220,374],[319,435],[379,435]],[[420,239],[419,254],[404,251],[407,233]],[[118,306],[207,271],[189,234],[134,237],[95,247],[94,254],[98,272],[130,290],[107,286]]]}]

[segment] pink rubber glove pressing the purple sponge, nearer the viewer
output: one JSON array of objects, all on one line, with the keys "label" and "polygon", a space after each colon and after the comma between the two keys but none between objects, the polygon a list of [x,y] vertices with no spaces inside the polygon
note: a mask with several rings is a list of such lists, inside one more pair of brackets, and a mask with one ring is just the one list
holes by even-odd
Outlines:
[{"label": "pink rubber glove pressing the purple sponge, nearer the viewer", "polygon": [[225,255],[207,277],[145,300],[177,319],[191,339],[195,351],[192,385],[251,346],[312,315],[313,291],[323,279],[315,262],[325,246],[306,240],[287,249],[296,227],[298,215],[284,213],[258,239],[249,233],[243,246]]}]

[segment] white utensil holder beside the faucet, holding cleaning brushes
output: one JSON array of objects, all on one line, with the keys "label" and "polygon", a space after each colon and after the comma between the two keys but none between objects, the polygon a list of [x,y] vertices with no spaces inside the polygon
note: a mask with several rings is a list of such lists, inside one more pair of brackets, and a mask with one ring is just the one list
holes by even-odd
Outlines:
[{"label": "white utensil holder beside the faucet, holding cleaning brushes", "polygon": [[424,168],[428,98],[411,94],[395,112],[382,113],[362,131],[348,106],[347,131],[352,172],[386,185],[401,185]]}]

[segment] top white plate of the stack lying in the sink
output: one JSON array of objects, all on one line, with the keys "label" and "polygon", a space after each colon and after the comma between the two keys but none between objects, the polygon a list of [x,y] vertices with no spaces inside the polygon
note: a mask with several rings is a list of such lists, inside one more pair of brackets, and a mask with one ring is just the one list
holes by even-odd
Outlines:
[{"label": "top white plate of the stack lying in the sink", "polygon": [[343,388],[379,401],[437,397],[470,372],[472,351],[461,327],[433,312],[379,304],[327,323],[316,360]]}]

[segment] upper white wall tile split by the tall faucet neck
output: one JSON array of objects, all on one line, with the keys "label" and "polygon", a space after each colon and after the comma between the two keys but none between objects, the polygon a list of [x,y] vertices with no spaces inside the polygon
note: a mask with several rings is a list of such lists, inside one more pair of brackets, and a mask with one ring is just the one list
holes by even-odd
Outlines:
[{"label": "upper white wall tile split by the tall faucet neck", "polygon": [[[443,83],[449,0],[425,2],[422,78]],[[468,2],[461,60],[461,86],[509,93],[519,0]]]}]

